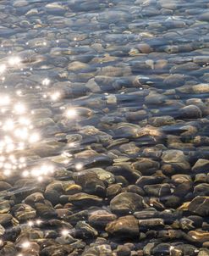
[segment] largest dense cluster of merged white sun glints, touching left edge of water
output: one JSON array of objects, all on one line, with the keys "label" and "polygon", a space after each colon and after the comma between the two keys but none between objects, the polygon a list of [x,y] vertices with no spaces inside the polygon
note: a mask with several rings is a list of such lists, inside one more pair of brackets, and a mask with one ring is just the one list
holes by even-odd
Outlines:
[{"label": "largest dense cluster of merged white sun glints, touching left edge of water", "polygon": [[5,177],[17,174],[30,176],[23,150],[38,142],[41,136],[25,116],[27,109],[24,103],[13,103],[6,94],[0,97],[0,173]]}]

